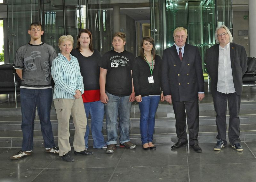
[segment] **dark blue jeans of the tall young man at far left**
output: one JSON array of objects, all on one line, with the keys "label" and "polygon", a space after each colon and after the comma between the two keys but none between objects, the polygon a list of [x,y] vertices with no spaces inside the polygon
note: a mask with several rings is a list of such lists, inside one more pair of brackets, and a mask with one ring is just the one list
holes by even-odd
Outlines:
[{"label": "dark blue jeans of the tall young man at far left", "polygon": [[33,149],[34,119],[36,107],[44,138],[44,147],[55,146],[50,121],[52,106],[52,88],[49,89],[20,89],[20,105],[22,114],[21,129],[23,133],[21,150]]}]

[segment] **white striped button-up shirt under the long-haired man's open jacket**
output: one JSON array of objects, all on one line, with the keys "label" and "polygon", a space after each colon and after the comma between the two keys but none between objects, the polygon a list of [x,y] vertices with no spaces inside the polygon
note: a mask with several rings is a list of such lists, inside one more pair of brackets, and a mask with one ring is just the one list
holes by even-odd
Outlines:
[{"label": "white striped button-up shirt under the long-haired man's open jacket", "polygon": [[219,46],[220,51],[217,91],[221,93],[236,92],[231,69],[229,44],[230,43],[228,42],[228,44],[225,47]]}]

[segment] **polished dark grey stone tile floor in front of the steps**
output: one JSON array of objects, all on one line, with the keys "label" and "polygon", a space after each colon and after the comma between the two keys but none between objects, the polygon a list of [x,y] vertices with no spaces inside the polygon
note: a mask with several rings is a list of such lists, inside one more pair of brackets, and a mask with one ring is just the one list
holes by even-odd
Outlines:
[{"label": "polished dark grey stone tile floor in front of the steps", "polygon": [[18,149],[1,148],[0,181],[256,181],[256,142],[242,145],[242,152],[230,145],[214,151],[214,143],[202,143],[202,153],[188,146],[171,151],[170,145],[156,145],[152,151],[141,145],[132,150],[117,147],[113,154],[89,148],[94,155],[73,155],[76,161],[71,163],[45,153],[44,148],[12,161],[9,157]]}]

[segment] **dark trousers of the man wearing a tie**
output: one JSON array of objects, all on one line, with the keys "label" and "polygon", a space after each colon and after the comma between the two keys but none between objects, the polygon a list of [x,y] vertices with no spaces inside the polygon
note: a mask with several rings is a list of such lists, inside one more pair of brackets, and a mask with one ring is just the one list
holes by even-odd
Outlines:
[{"label": "dark trousers of the man wearing a tie", "polygon": [[[188,100],[184,102],[172,101],[172,106],[176,120],[176,134],[179,138],[178,142],[187,142],[189,145],[198,144],[197,136],[199,131],[199,110],[198,99]],[[185,112],[186,110],[186,112]],[[188,122],[189,136],[187,139],[186,114]]]}]

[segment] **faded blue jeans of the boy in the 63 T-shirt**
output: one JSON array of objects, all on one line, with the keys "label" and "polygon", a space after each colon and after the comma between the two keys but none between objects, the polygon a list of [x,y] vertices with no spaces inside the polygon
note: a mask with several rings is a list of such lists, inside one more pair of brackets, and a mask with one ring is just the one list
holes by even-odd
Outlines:
[{"label": "faded blue jeans of the boy in the 63 T-shirt", "polygon": [[108,104],[105,105],[106,125],[108,141],[107,145],[117,143],[117,115],[119,113],[118,128],[120,133],[119,142],[125,143],[130,141],[129,127],[130,127],[130,111],[131,102],[130,96],[119,97],[106,92],[108,96]]}]

